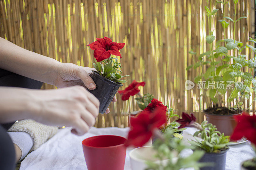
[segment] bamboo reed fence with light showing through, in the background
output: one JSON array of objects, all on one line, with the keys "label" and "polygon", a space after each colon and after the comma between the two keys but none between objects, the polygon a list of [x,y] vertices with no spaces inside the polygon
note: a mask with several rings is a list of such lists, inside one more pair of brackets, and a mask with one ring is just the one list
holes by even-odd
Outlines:
[{"label": "bamboo reed fence with light showing through, in the background", "polygon": [[[220,9],[215,21],[216,40],[223,38],[218,22],[223,17]],[[252,36],[254,13],[251,0],[239,0],[237,16],[247,16],[233,30],[230,24],[226,35],[244,44]],[[125,42],[120,51],[123,74],[130,74],[128,82],[145,81],[141,93],[152,93],[179,115],[182,111],[195,112],[199,122],[206,103],[194,88],[185,89],[186,80],[194,80],[195,70],[186,70],[193,63],[191,49],[206,50],[205,36],[208,23],[205,0],[0,0],[0,37],[20,47],[52,57],[60,62],[71,62],[92,67],[93,51],[86,47],[98,37],[109,37],[114,42]],[[233,18],[234,4],[224,16]],[[246,54],[249,56],[250,51]],[[205,69],[205,68],[204,68]],[[120,88],[124,89],[124,87]],[[43,89],[54,88],[43,85]],[[254,97],[254,96],[252,96]],[[128,113],[138,110],[131,97],[110,105],[109,114],[100,114],[96,127],[126,127]],[[248,107],[252,99],[245,102]],[[255,108],[253,103],[252,108]],[[254,109],[253,109],[254,111]]]}]

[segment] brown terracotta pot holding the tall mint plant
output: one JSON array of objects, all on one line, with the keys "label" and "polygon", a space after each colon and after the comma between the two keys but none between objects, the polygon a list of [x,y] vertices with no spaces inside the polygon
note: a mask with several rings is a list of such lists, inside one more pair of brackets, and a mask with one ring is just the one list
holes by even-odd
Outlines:
[{"label": "brown terracotta pot holding the tall mint plant", "polygon": [[236,120],[234,116],[241,115],[241,113],[234,115],[214,115],[204,112],[206,120],[216,126],[220,133],[224,133],[226,136],[232,135],[235,127]]}]

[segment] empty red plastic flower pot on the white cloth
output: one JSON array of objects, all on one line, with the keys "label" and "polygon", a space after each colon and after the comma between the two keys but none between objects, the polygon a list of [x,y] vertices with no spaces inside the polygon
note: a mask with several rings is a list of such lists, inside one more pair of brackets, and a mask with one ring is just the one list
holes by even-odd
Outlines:
[{"label": "empty red plastic flower pot on the white cloth", "polygon": [[88,170],[124,170],[126,138],[100,135],[82,141]]}]

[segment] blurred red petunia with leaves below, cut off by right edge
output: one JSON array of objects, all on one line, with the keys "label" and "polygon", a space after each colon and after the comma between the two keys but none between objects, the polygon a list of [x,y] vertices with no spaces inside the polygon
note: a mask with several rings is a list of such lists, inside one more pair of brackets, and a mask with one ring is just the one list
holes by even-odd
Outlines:
[{"label": "blurred red petunia with leaves below, cut off by right edge", "polygon": [[[252,148],[256,155],[256,115],[249,115],[244,113],[235,117],[237,125],[230,137],[233,140],[241,139],[246,137],[252,143]],[[256,170],[256,157],[245,160],[241,165],[242,170]]]}]

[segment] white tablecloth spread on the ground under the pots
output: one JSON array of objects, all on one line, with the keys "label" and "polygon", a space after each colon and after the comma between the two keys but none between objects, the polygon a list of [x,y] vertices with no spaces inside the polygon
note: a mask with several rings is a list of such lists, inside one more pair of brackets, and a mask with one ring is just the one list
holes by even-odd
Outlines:
[{"label": "white tablecloth spread on the ground under the pots", "polygon": [[[196,129],[188,128],[184,131],[184,141],[187,141]],[[129,128],[95,128],[92,127],[83,136],[76,136],[70,132],[70,128],[60,129],[59,132],[41,145],[36,151],[31,152],[21,162],[20,170],[40,170],[40,169],[67,169],[86,170],[82,140],[96,135],[118,135],[126,137]],[[130,150],[126,152],[124,170],[131,170]],[[240,164],[246,159],[251,159],[254,152],[249,142],[231,146],[227,152],[226,170],[238,170]],[[100,160],[99,160],[100,162]]]}]

